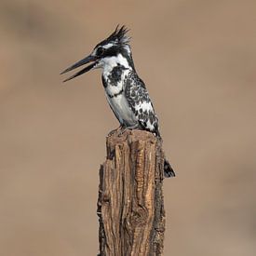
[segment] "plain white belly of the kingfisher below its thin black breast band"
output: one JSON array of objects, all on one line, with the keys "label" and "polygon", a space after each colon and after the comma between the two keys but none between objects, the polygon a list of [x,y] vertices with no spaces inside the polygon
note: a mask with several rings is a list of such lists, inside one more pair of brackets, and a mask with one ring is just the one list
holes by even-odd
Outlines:
[{"label": "plain white belly of the kingfisher below its thin black breast band", "polygon": [[128,101],[123,93],[113,98],[106,94],[106,97],[121,125],[132,127],[138,123],[136,116],[128,107]]}]

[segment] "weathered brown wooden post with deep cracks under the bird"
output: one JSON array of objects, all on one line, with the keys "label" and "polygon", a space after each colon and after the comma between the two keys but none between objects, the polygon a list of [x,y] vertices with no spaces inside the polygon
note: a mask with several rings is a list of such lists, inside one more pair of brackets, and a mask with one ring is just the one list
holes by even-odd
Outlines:
[{"label": "weathered brown wooden post with deep cracks under the bird", "polygon": [[115,131],[106,146],[98,199],[99,255],[163,255],[162,141],[147,131]]}]

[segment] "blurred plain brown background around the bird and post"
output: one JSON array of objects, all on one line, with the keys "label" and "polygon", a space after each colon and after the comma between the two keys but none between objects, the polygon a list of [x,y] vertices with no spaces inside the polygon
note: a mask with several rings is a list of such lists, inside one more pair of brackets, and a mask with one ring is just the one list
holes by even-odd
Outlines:
[{"label": "blurred plain brown background around the bird and post", "polygon": [[131,29],[177,178],[165,255],[256,255],[256,2],[0,4],[0,255],[98,251],[98,170],[117,121],[100,71],[60,72]]}]

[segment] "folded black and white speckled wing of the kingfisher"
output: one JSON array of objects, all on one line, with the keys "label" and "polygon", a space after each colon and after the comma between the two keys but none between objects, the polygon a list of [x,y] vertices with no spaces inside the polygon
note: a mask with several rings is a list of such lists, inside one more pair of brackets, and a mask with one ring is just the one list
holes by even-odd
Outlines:
[{"label": "folded black and white speckled wing of the kingfisher", "polygon": [[141,78],[135,73],[129,73],[125,81],[125,96],[132,112],[137,117],[142,129],[159,135],[158,119],[153,104]]}]

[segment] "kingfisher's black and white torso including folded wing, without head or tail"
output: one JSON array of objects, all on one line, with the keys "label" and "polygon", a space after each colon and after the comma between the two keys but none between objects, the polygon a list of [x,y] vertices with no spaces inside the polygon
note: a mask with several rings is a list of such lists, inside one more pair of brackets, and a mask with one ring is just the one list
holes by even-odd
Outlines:
[{"label": "kingfisher's black and white torso including folded wing, without head or tail", "polygon": [[102,75],[107,100],[120,125],[141,128],[159,135],[158,120],[143,81],[122,65]]}]

